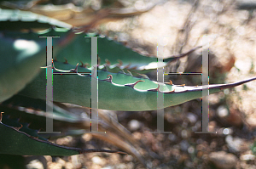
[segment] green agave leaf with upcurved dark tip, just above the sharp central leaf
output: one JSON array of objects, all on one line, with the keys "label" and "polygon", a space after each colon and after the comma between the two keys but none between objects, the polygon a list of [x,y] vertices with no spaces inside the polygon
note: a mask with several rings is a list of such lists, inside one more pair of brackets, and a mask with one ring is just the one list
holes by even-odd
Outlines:
[{"label": "green agave leaf with upcurved dark tip, just above the sharp central leaf", "polygon": [[[159,65],[156,56],[143,55],[136,49],[127,48],[124,44],[109,39],[108,37],[98,37],[97,43],[98,58],[101,60],[99,69],[101,70],[108,66],[108,71],[115,73],[121,70],[132,70],[139,73],[147,72],[145,70],[156,70],[157,68],[165,67],[168,63],[194,52],[197,48],[201,48],[196,47],[189,50],[187,53],[170,56],[164,59],[162,65]],[[59,54],[56,54],[55,57],[57,61],[67,61],[70,65],[76,65],[78,62],[90,65],[90,48],[90,37],[86,37],[85,34],[79,34],[74,37],[73,42],[69,43],[67,47],[61,50]]]}]

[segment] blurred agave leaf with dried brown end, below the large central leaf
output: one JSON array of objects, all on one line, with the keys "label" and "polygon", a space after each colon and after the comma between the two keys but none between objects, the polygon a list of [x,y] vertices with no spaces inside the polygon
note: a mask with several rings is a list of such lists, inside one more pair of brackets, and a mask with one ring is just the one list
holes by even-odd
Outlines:
[{"label": "blurred agave leaf with dried brown end, below the large central leaf", "polygon": [[[37,130],[32,130],[28,127],[28,124],[22,121],[32,121],[31,127],[42,128],[45,127],[45,101],[40,99],[30,99],[24,96],[15,95],[11,99],[4,101],[0,105],[0,110],[4,111],[3,123],[19,128],[20,132],[26,132],[34,138],[38,138],[44,141],[47,139],[43,138],[38,134]],[[26,113],[25,113],[26,112]],[[81,118],[80,113],[86,112],[87,118]],[[19,119],[11,119],[8,116],[19,116]],[[38,115],[38,116],[35,116]],[[125,150],[130,155],[134,155],[138,161],[145,164],[142,155],[140,155],[135,147],[139,145],[135,139],[131,137],[131,132],[127,131],[125,127],[119,124],[118,121],[114,120],[106,112],[99,111],[99,117],[104,118],[99,121],[92,121],[92,123],[98,123],[99,132],[91,133],[93,137],[100,138],[103,141],[107,141],[110,144],[116,145],[119,149]],[[61,131],[61,134],[44,134],[44,137],[48,138],[60,138],[63,136],[79,136],[84,132],[90,133],[90,110],[84,109],[84,107],[72,105],[72,104],[61,104],[55,103],[53,106],[53,118],[54,118],[54,129]],[[63,125],[65,123],[65,125]],[[22,125],[22,127],[21,127]],[[20,128],[21,127],[21,128]]]}]

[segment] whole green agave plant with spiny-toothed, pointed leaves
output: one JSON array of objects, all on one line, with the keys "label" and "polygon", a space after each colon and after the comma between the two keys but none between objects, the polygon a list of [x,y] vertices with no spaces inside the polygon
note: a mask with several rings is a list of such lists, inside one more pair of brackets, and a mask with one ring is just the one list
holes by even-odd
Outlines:
[{"label": "whole green agave plant with spiny-toothed, pointed leaves", "polygon": [[[31,17],[26,13],[14,14],[8,10],[2,10],[1,14],[6,15],[7,18],[15,18],[17,15],[23,17],[23,19]],[[5,20],[4,23],[9,24],[9,21]],[[86,34],[86,32],[76,33],[72,25],[59,22],[55,22],[55,25],[61,25],[65,28],[49,28],[46,31],[29,32],[1,31],[0,102],[2,104],[8,104],[8,99],[13,97],[12,102],[16,99],[25,100],[25,104],[38,101],[38,104],[45,105],[45,70],[49,69],[49,66],[45,65],[46,39],[39,38],[40,36],[60,37],[53,39],[54,59],[52,60],[51,69],[54,74],[53,101],[55,106],[53,106],[53,113],[55,119],[59,119],[63,123],[78,124],[82,122],[78,116],[65,111],[67,108],[63,109],[65,106],[61,103],[77,104],[90,108],[91,81],[93,79],[98,82],[98,109],[122,111],[163,109],[201,98],[202,90],[217,93],[224,88],[236,87],[256,79],[252,78],[231,84],[209,85],[207,88],[174,85],[172,82],[154,82],[145,73],[162,69],[170,62],[201,47],[193,48],[185,54],[171,56],[164,59],[162,65],[158,65],[157,58],[154,56],[144,56],[132,50],[132,48],[126,48],[124,44],[107,37],[101,37],[98,34]],[[98,44],[96,74],[91,72],[95,68],[90,65],[90,37],[94,36],[97,37]],[[161,107],[157,105],[158,93],[162,93],[165,99]],[[60,110],[61,106],[62,110]],[[2,113],[0,117],[0,132],[2,136],[5,136],[0,139],[0,154],[79,155],[88,152],[122,153],[115,150],[79,149],[53,144],[38,135],[38,131],[27,127],[26,123],[9,119],[9,117],[2,118]],[[101,125],[101,127],[104,126],[103,122]],[[117,130],[117,128],[112,129]],[[129,138],[125,135],[124,137]],[[130,140],[131,142],[132,140]],[[131,145],[127,144],[124,150],[137,156],[137,159],[143,162],[137,151],[129,150],[129,148],[131,148]]]}]

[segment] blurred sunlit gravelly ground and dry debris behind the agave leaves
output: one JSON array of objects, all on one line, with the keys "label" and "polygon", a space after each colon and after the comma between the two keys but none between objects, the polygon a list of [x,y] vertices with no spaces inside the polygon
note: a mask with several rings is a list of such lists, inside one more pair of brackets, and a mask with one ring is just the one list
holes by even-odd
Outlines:
[{"label": "blurred sunlit gravelly ground and dry debris behind the agave leaves", "polygon": [[[144,54],[180,54],[210,39],[210,84],[256,76],[256,3],[237,0],[39,0],[1,1],[1,8],[44,14],[81,30],[97,31]],[[163,37],[158,43],[157,36]],[[201,49],[168,65],[166,72],[201,72]],[[156,71],[148,74],[156,80]],[[165,82],[201,85],[201,75],[165,75]],[[156,111],[107,112],[128,129],[138,156],[93,153],[69,157],[26,156],[26,168],[256,168],[256,82],[209,96],[209,131],[201,131],[201,99],[165,109],[165,132],[157,128]],[[114,131],[113,131],[114,132]],[[56,144],[122,149],[85,133],[58,138]],[[130,140],[131,141],[131,140]],[[118,142],[118,141],[117,141]],[[132,142],[132,141],[131,141]],[[135,144],[137,143],[137,144]],[[85,144],[85,145],[84,145]],[[83,147],[82,146],[82,147]],[[6,157],[7,158],[7,157]],[[11,159],[12,157],[8,157]],[[4,161],[3,158],[1,161]]]}]

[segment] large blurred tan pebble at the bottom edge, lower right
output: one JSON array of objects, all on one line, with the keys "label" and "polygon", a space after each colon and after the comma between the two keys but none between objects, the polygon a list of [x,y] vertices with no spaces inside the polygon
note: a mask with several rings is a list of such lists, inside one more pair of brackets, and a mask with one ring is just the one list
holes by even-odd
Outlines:
[{"label": "large blurred tan pebble at the bottom edge, lower right", "polygon": [[210,153],[209,161],[220,169],[231,169],[235,168],[238,160],[236,155],[226,153],[224,151],[218,151]]}]

